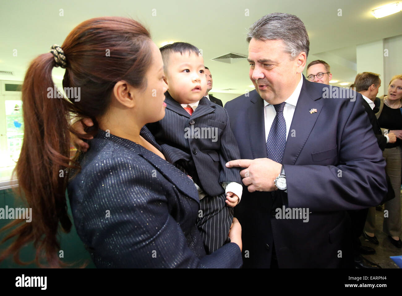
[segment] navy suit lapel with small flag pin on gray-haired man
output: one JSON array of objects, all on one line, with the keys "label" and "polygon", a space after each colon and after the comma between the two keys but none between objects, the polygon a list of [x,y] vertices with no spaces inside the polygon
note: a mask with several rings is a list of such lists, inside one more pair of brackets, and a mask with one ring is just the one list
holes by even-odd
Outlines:
[{"label": "navy suit lapel with small flag pin on gray-haired man", "polygon": [[[287,136],[285,152],[283,153],[283,164],[295,164],[322,110],[323,99],[320,99],[321,97],[322,92],[315,89],[303,77],[303,85],[301,86],[289,135]],[[313,108],[317,109],[317,112],[311,114],[309,111]],[[291,136],[292,130],[295,130],[295,137]]]}]

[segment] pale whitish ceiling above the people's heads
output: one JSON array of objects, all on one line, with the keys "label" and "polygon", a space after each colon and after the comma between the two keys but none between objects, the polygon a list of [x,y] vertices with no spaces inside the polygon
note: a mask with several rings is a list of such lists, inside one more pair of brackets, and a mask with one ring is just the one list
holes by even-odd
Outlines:
[{"label": "pale whitish ceiling above the people's heads", "polygon": [[[396,0],[395,0],[396,1]],[[270,12],[295,14],[304,21],[310,36],[308,62],[317,58],[331,65],[332,79],[353,82],[356,75],[356,45],[402,34],[402,12],[375,19],[370,11],[394,2],[383,0],[13,0],[2,1],[0,10],[0,70],[13,76],[4,80],[23,80],[29,62],[61,45],[80,22],[92,17],[123,16],[142,22],[154,42],[185,41],[203,50],[205,65],[213,74],[213,91],[250,89],[248,63],[233,64],[212,58],[236,52],[247,54],[246,31],[254,21]],[[203,5],[201,5],[203,4]],[[64,16],[59,16],[59,9]],[[156,16],[152,16],[156,9]],[[245,16],[248,9],[249,16]],[[338,16],[342,9],[342,16]],[[154,10],[155,12],[155,10]],[[17,49],[17,56],[12,55]],[[55,68],[53,74],[62,76]],[[57,81],[56,81],[57,82]],[[59,82],[58,82],[59,83]]]}]

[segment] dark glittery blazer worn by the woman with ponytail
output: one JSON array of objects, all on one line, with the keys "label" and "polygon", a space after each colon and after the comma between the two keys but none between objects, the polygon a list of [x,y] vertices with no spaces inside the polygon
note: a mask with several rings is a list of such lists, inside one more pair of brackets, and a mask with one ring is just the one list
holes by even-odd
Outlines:
[{"label": "dark glittery blazer worn by the woman with ponytail", "polygon": [[[140,134],[160,149],[146,127]],[[68,196],[96,267],[241,267],[237,244],[205,255],[194,183],[158,155],[99,130],[80,165]]]}]

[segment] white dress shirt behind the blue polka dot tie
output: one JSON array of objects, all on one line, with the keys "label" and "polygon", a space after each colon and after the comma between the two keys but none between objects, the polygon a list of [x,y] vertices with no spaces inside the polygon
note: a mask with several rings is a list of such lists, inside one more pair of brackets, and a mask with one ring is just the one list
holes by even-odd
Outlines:
[{"label": "white dress shirt behind the blue polka dot tie", "polygon": [[[295,113],[297,100],[299,99],[301,85],[303,85],[303,76],[300,74],[299,83],[290,97],[285,100],[285,106],[283,107],[283,117],[286,122],[286,140],[287,135],[289,134],[290,124],[292,123],[293,114]],[[275,107],[264,100],[265,142],[267,142],[269,130],[271,130],[271,125],[275,119],[275,115]]]}]

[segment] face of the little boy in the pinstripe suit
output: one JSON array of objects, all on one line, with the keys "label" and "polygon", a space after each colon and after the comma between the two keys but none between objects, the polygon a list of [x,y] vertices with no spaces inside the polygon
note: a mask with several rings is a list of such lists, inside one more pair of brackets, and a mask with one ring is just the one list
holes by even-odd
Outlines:
[{"label": "face of the little boy in the pinstripe suit", "polygon": [[170,54],[165,73],[172,98],[180,104],[199,101],[207,91],[204,59],[201,55],[185,52]]}]

